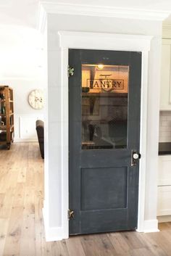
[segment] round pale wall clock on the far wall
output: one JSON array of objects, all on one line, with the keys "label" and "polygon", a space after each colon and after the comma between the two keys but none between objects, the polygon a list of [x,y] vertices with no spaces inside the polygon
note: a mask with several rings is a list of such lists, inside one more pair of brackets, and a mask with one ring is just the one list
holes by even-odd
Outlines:
[{"label": "round pale wall clock on the far wall", "polygon": [[35,110],[41,110],[43,108],[43,91],[40,89],[36,89],[30,91],[28,95],[28,103],[30,107],[33,107]]}]

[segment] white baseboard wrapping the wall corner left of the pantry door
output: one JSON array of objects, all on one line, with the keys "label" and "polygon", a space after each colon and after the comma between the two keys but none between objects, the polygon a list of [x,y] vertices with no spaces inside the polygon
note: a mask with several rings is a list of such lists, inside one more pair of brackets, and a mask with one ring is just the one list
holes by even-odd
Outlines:
[{"label": "white baseboard wrapping the wall corner left of the pantry door", "polygon": [[62,239],[67,239],[68,237],[64,237],[64,230],[62,227],[49,226],[49,220],[47,220],[45,208],[43,208],[42,211],[43,211],[46,241],[61,241]]}]

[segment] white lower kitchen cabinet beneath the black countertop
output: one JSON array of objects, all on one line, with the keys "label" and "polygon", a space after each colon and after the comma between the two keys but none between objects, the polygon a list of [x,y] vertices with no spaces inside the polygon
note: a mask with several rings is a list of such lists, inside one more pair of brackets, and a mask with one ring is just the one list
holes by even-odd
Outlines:
[{"label": "white lower kitchen cabinet beneath the black countertop", "polygon": [[171,215],[171,155],[159,156],[157,216]]}]

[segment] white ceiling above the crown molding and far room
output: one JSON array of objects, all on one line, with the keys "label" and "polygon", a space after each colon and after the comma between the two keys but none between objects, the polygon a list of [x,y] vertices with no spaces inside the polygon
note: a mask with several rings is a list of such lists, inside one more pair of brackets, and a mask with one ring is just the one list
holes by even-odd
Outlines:
[{"label": "white ceiling above the crown molding and far room", "polygon": [[[44,0],[40,0],[44,1]],[[65,4],[86,4],[170,11],[171,0],[46,0]],[[0,24],[36,28],[39,0],[0,0]],[[168,20],[171,22],[171,19]]]}]

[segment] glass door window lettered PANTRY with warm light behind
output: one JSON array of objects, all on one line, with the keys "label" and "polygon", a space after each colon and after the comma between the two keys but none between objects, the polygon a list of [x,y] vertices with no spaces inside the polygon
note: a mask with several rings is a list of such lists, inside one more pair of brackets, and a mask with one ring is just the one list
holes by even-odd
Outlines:
[{"label": "glass door window lettered PANTRY with warm light behind", "polygon": [[82,149],[128,144],[128,65],[82,65]]}]

